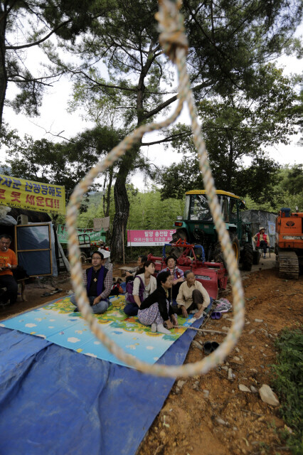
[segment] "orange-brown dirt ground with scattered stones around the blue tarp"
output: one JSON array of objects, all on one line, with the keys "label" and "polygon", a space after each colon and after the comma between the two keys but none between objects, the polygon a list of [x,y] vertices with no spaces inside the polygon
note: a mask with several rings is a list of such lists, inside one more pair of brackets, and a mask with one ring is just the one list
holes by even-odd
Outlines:
[{"label": "orange-brown dirt ground with scattered stones around the blue tarp", "polygon": [[[121,276],[115,267],[114,276]],[[142,441],[137,455],[229,455],[276,454],[287,450],[277,429],[284,427],[279,407],[266,405],[258,393],[241,392],[239,385],[259,389],[270,385],[270,365],[275,363],[275,338],[285,326],[302,325],[303,276],[291,281],[278,277],[275,255],[262,259],[252,272],[242,274],[245,289],[245,328],[223,365],[203,376],[176,380],[159,415]],[[62,292],[41,297],[58,287]],[[41,280],[26,287],[26,302],[11,309],[0,309],[0,320],[34,306],[41,306],[71,289],[68,276],[58,280]],[[221,296],[230,302],[227,289]],[[257,320],[257,321],[256,321]],[[226,331],[232,313],[219,320],[209,319],[204,328]],[[224,336],[208,333],[194,338],[186,363],[203,358],[205,341],[221,343]],[[201,346],[198,348],[197,346]],[[228,380],[228,368],[233,371]]]}]

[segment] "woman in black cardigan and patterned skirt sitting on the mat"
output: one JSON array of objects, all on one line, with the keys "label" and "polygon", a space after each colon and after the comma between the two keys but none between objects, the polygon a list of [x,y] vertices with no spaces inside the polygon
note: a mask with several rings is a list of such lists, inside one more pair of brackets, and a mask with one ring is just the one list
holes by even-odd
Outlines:
[{"label": "woman in black cardigan and patterned skirt sitting on the mat", "polygon": [[172,286],[171,272],[159,273],[156,277],[156,284],[156,290],[142,301],[138,319],[144,326],[151,326],[153,332],[170,333],[169,328],[178,326],[177,316],[169,304],[169,289]]}]

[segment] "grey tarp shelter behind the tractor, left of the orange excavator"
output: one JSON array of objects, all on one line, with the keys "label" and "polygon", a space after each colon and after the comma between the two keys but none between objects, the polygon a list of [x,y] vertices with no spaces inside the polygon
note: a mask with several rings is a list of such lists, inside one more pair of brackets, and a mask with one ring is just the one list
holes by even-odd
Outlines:
[{"label": "grey tarp shelter behind the tractor, left of the orange excavator", "polygon": [[275,223],[277,215],[265,210],[243,210],[241,212],[243,223],[250,223],[252,235],[259,232],[260,226],[265,228],[265,233],[270,236],[270,246],[275,246]]}]

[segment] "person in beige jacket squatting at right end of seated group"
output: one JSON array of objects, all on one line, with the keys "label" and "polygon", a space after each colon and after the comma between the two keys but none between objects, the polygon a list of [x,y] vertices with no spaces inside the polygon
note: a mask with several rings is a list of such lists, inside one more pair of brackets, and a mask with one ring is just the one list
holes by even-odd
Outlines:
[{"label": "person in beige jacket squatting at right end of seated group", "polygon": [[211,298],[202,284],[196,280],[193,272],[186,270],[184,277],[186,281],[181,284],[176,298],[178,314],[187,318],[188,313],[195,313],[193,316],[199,319],[203,316],[203,309],[210,304]]}]

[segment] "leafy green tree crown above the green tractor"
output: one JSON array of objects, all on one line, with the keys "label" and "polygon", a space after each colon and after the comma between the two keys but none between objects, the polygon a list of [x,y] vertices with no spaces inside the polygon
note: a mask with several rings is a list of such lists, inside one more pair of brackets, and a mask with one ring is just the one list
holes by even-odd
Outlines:
[{"label": "leafy green tree crown above the green tractor", "polygon": [[[287,143],[294,134],[298,113],[290,107],[298,102],[296,80],[284,77],[272,63],[261,65],[255,77],[257,84],[246,87],[246,92],[235,87],[225,97],[201,100],[198,113],[216,187],[246,193],[261,204],[273,203],[275,194],[271,190],[280,166],[267,156],[265,147]],[[177,125],[173,134],[172,145],[186,157],[180,164],[163,169],[163,198],[203,188],[191,132]],[[251,164],[245,167],[243,160],[248,158]],[[296,177],[299,186],[299,169],[297,174],[292,181]]]}]

